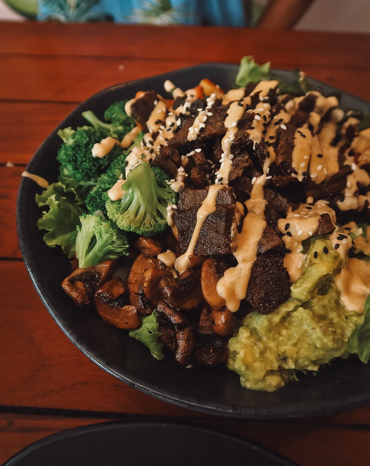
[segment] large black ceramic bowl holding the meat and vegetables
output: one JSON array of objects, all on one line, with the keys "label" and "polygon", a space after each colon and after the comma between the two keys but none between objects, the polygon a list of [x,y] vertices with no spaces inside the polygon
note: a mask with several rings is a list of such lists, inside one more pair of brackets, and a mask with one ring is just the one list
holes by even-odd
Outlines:
[{"label": "large black ceramic bowl holding the meat and vegetables", "polygon": [[[170,79],[182,89],[189,89],[208,77],[223,89],[233,86],[236,65],[206,64],[180,69],[164,75],[119,84],[105,89],[81,103],[41,144],[27,165],[27,171],[57,179],[55,159],[60,146],[57,130],[81,126],[84,110],[93,110],[99,117],[113,102],[132,98],[139,90],[163,92],[163,83]],[[291,79],[288,71],[275,74]],[[317,87],[334,89],[309,79]],[[370,103],[342,93],[342,104],[370,111]],[[288,418],[313,416],[344,411],[370,402],[370,366],[357,358],[335,361],[320,370],[317,376],[299,377],[275,393],[242,388],[235,372],[224,366],[184,369],[170,360],[157,361],[142,343],[130,338],[128,332],[104,322],[98,313],[77,308],[64,293],[60,283],[69,274],[69,261],[59,249],[47,247],[43,232],[37,226],[41,210],[34,198],[40,188],[31,179],[22,178],[17,201],[17,227],[20,248],[33,284],[46,308],[60,328],[90,359],[126,384],[169,403],[193,410],[240,418]]]}]

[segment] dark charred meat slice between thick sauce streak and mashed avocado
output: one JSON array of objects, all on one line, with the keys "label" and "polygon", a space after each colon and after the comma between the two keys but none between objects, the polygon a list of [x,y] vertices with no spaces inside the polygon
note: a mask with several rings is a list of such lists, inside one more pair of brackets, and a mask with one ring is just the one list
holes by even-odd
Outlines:
[{"label": "dark charred meat slice between thick sauce streak and mashed avocado", "polygon": [[270,314],[290,295],[291,283],[280,254],[257,257],[251,270],[246,300],[260,314]]}]

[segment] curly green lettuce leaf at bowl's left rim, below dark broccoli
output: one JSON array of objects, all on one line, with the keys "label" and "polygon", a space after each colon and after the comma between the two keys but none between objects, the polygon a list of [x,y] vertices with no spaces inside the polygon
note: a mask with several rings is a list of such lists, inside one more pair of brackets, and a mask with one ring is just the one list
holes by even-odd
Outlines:
[{"label": "curly green lettuce leaf at bowl's left rim, below dark broccoli", "polygon": [[41,194],[36,194],[35,200],[39,207],[46,207],[37,222],[40,230],[47,230],[44,241],[50,247],[60,246],[69,258],[73,258],[79,217],[86,212],[84,201],[75,189],[60,182],[53,183]]}]

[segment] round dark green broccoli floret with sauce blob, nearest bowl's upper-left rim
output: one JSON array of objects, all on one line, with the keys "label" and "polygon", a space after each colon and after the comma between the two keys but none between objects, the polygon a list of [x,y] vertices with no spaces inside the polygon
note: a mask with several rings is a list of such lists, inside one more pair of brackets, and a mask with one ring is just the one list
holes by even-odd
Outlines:
[{"label": "round dark green broccoli floret with sauce blob, nearest bowl's upper-left rim", "polygon": [[61,145],[57,159],[60,163],[60,174],[77,181],[92,181],[106,171],[112,160],[122,154],[117,144],[105,157],[93,157],[92,149],[107,137],[107,133],[91,126],[78,128]]}]

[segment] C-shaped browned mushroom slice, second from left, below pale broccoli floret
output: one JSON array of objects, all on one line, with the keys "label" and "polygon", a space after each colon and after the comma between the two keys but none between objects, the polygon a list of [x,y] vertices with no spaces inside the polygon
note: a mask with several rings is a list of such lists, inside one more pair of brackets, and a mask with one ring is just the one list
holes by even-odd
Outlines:
[{"label": "C-shaped browned mushroom slice, second from left, below pale broccoli floret", "polygon": [[126,286],[119,277],[112,278],[95,293],[94,304],[100,317],[118,329],[137,329],[141,320],[135,306],[127,304]]}]

